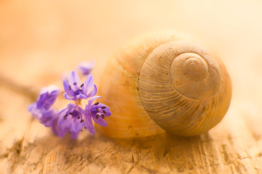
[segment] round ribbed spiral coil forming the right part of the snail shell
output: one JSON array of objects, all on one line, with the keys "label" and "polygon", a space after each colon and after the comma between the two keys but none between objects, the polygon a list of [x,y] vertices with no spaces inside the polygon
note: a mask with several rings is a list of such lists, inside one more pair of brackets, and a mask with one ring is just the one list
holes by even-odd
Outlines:
[{"label": "round ribbed spiral coil forming the right part of the snail shell", "polygon": [[167,42],[155,48],[144,61],[138,81],[148,115],[178,135],[195,135],[215,126],[224,116],[221,110],[229,105],[223,101],[226,89],[219,68],[224,67],[218,61],[221,67],[207,51],[190,42]]}]

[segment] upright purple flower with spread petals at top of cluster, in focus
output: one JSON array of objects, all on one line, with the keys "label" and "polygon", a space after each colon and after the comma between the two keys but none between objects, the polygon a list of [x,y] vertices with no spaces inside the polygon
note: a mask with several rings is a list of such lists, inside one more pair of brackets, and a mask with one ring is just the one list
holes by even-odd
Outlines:
[{"label": "upright purple flower with spread petals at top of cluster, in focus", "polygon": [[[97,93],[97,87],[94,84],[94,77],[90,74],[86,80],[81,84],[81,80],[75,71],[72,71],[69,82],[63,81],[65,88],[64,97],[68,100],[87,99]],[[93,87],[94,86],[94,87]]]}]

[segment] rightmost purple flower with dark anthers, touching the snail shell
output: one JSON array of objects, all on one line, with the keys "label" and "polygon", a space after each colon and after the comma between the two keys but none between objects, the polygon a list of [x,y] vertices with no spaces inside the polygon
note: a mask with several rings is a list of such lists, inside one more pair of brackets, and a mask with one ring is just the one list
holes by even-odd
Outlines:
[{"label": "rightmost purple flower with dark anthers, touching the snail shell", "polygon": [[90,123],[89,120],[92,117],[94,122],[96,122],[97,124],[107,126],[107,122],[105,122],[104,118],[110,116],[111,112],[109,110],[109,107],[105,104],[99,102],[95,102],[95,104],[93,104],[96,98],[101,98],[101,96],[94,96],[88,100],[88,104],[85,108],[86,121],[84,121],[84,124]]}]

